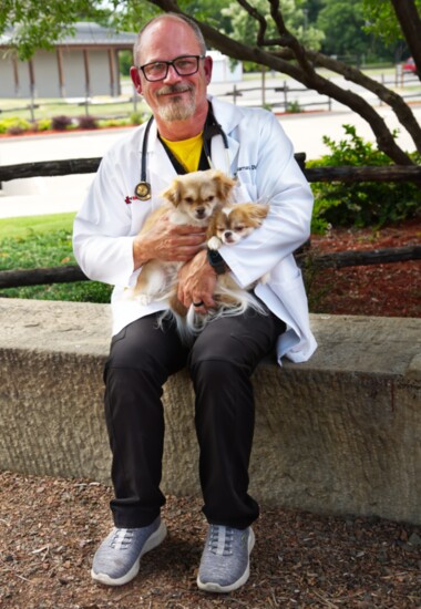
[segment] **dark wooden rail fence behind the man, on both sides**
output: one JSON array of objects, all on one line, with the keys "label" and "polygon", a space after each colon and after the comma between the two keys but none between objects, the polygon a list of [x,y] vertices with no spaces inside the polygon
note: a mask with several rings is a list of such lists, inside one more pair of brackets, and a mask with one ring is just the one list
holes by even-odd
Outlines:
[{"label": "dark wooden rail fence behind the man, on both sides", "polygon": [[[305,153],[296,159],[309,182],[414,182],[421,185],[421,166],[388,165],[381,167],[306,167]],[[0,165],[0,185],[17,178],[60,176],[95,173],[101,158],[76,158]],[[301,265],[306,265],[308,246],[297,252]],[[373,249],[370,251],[338,251],[311,256],[311,265],[319,268],[343,268],[360,265],[380,265],[404,260],[420,260],[421,245]],[[86,280],[78,266],[0,271],[0,289],[43,283],[66,283]]]}]

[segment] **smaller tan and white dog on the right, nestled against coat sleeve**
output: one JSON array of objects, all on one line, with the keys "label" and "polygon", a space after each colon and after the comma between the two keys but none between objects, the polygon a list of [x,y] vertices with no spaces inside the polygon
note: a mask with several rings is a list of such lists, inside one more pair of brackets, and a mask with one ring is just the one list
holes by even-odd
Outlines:
[{"label": "smaller tan and white dog on the right, nestled against coat sleeve", "polygon": [[[222,245],[233,246],[237,244],[256,228],[259,228],[268,213],[269,206],[258,203],[228,204],[216,209],[207,229],[207,247],[217,250]],[[267,280],[268,273],[259,279],[264,283]],[[206,316],[201,316],[195,312],[192,306],[187,314],[187,328],[196,334],[209,321],[222,317],[242,314],[248,307],[263,312],[261,304],[250,291],[257,282],[240,288],[229,272],[218,275],[214,291],[217,309]]]}]

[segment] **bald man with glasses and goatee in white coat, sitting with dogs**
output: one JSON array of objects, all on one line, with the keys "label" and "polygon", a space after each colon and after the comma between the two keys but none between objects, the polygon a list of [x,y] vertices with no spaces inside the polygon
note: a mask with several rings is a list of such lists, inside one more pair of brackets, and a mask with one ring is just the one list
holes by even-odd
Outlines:
[{"label": "bald man with glasses and goatee in white coat, sitting with dogs", "polygon": [[[196,394],[203,512],[209,524],[197,577],[203,590],[228,592],[249,575],[258,517],[248,494],[254,432],[250,375],[276,348],[305,361],[316,349],[307,300],[292,252],[309,235],[312,197],[290,142],[275,116],[207,96],[212,59],[201,31],[187,19],[164,14],[138,34],[131,76],[153,113],[104,156],[74,223],[74,251],[92,279],[115,286],[113,338],[105,365],[105,414],[113,453],[114,528],[97,549],[92,577],[111,586],[133,579],[140,558],[165,538],[160,512],[163,453],[162,385],[187,367]],[[209,257],[204,233],[160,220],[137,236],[160,193],[178,173],[212,164],[237,177],[235,200],[270,204],[264,226]],[[147,174],[147,178],[146,175]],[[151,198],[148,189],[151,188]],[[134,193],[136,192],[136,195]],[[206,326],[191,349],[170,323],[156,326],[162,302],[123,298],[150,259],[185,262],[178,298],[198,313],[215,306],[220,272],[246,286],[270,271],[256,296],[256,311]]]}]

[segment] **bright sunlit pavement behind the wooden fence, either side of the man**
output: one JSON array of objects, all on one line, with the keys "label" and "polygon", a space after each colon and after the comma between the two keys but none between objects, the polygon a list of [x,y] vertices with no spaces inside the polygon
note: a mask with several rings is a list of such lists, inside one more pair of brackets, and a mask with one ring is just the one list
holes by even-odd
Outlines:
[{"label": "bright sunlit pavement behind the wooden fence, either side of the man", "polygon": [[[413,112],[421,121],[421,104]],[[380,113],[391,128],[399,128],[394,114],[388,107]],[[305,152],[308,159],[318,158],[328,152],[322,143],[324,135],[336,142],[343,138],[343,124],[352,124],[364,140],[374,141],[368,124],[349,111],[331,113],[305,113],[279,116],[296,152]],[[33,135],[0,140],[0,165],[14,165],[58,158],[100,157],[127,130],[101,130],[90,133],[63,135]],[[411,137],[403,132],[399,144],[414,149]],[[76,211],[83,202],[92,175],[35,177],[3,183],[0,189],[0,217]]]}]

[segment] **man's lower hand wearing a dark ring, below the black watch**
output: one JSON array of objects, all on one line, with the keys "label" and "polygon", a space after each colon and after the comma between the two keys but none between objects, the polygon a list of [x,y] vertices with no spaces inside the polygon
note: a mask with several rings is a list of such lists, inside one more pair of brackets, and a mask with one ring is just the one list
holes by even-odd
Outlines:
[{"label": "man's lower hand wearing a dark ring, below the black watch", "polygon": [[213,298],[216,272],[207,261],[206,251],[199,251],[178,272],[178,300],[185,307],[195,304],[195,311],[206,313],[216,303]]}]

